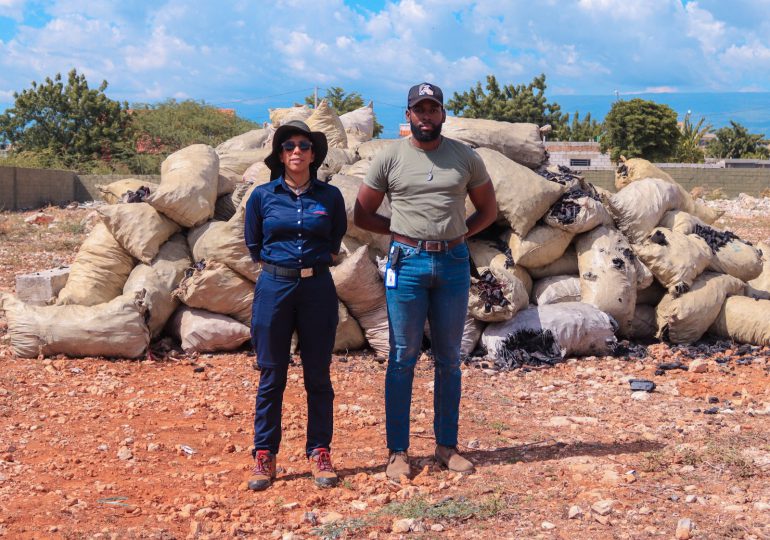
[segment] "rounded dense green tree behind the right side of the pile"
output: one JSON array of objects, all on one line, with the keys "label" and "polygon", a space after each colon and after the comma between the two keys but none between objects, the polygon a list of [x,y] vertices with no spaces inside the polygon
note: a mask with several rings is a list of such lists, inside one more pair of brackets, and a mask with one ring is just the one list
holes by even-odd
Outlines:
[{"label": "rounded dense green tree behind the right side of the pile", "polygon": [[610,151],[614,161],[621,155],[665,161],[676,153],[680,136],[671,107],[639,98],[616,101],[604,119],[604,128],[602,152]]}]

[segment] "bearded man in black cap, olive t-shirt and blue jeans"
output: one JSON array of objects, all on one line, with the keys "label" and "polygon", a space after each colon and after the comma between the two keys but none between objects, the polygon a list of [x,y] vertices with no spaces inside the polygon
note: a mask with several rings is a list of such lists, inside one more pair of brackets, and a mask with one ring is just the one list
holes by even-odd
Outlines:
[{"label": "bearded man in black cap, olive t-shirt and blue jeans", "polygon": [[[460,343],[468,308],[467,236],[497,217],[484,163],[468,146],[441,136],[443,93],[422,83],[409,90],[406,119],[412,137],[378,154],[358,192],[355,224],[392,238],[385,286],[390,356],[385,376],[388,478],[409,476],[409,412],[414,366],[427,317],[436,360],[433,430],[436,459],[452,471],[471,472],[457,452]],[[392,218],[377,214],[387,194]],[[465,199],[476,208],[465,219]]]}]

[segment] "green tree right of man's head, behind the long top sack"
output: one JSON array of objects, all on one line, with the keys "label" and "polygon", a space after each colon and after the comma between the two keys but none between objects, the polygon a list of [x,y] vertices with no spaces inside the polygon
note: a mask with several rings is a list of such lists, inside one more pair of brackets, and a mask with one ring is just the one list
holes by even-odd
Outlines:
[{"label": "green tree right of man's head, behind the long top sack", "polygon": [[565,140],[568,115],[561,112],[557,103],[549,103],[545,97],[545,74],[525,85],[507,84],[500,87],[494,75],[487,75],[486,92],[477,82],[474,88],[454,93],[446,108],[466,118],[489,118],[506,122],[529,122],[544,126],[550,124],[552,137]]}]

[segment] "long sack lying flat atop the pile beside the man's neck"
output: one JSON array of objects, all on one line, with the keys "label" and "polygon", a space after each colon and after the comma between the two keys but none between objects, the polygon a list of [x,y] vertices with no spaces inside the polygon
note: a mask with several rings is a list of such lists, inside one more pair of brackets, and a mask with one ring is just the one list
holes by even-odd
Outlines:
[{"label": "long sack lying flat atop the pile beside the man's neck", "polygon": [[546,161],[545,145],[535,124],[447,116],[441,133],[473,148],[496,150],[530,169]]}]

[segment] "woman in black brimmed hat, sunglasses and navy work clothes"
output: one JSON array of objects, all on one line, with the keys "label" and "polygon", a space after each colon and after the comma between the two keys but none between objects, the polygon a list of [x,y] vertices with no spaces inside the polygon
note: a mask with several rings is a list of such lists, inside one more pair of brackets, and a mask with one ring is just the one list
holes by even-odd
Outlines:
[{"label": "woman in black brimmed hat, sunglasses and navy work clothes", "polygon": [[319,182],[326,136],[291,121],[273,137],[268,184],[246,204],[246,245],[262,272],[254,289],[251,338],[260,368],[254,415],[254,470],[249,488],[275,479],[281,442],[281,407],[291,336],[299,336],[307,391],[306,455],[315,483],[337,484],[329,455],[334,390],[329,375],[337,328],[337,292],[329,265],[347,228],[345,202],[336,187]]}]

